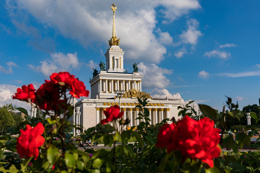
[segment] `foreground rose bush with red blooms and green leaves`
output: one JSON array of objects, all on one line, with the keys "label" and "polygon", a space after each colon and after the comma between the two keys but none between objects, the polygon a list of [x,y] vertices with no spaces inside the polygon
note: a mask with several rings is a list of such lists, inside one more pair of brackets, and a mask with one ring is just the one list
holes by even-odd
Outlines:
[{"label": "foreground rose bush with red blooms and green leaves", "polygon": [[[69,93],[69,94],[68,94]],[[68,122],[73,116],[73,108],[69,103],[72,97],[88,96],[89,91],[83,82],[68,72],[54,73],[50,80],[46,80],[39,89],[35,90],[33,85],[23,85],[17,89],[14,99],[25,102],[33,102],[35,107],[42,111],[47,119],[28,118],[28,112],[23,108],[17,108],[25,113],[25,121],[8,129],[8,135],[0,139],[7,142],[0,142],[0,149],[6,148],[11,152],[5,152],[6,163],[0,167],[8,170],[12,165],[20,172],[228,172],[227,168],[244,172],[240,162],[250,159],[249,163],[259,160],[259,157],[244,154],[248,157],[236,160],[233,156],[220,156],[220,147],[233,148],[237,152],[238,147],[248,146],[260,147],[260,143],[250,144],[250,136],[259,129],[259,125],[248,126],[249,136],[244,133],[236,134],[236,141],[232,136],[226,135],[219,138],[219,131],[215,128],[214,122],[219,122],[222,129],[227,127],[230,117],[236,117],[237,104],[233,104],[228,98],[227,106],[230,109],[222,119],[216,118],[216,112],[207,105],[200,104],[200,110],[209,118],[200,121],[191,119],[189,116],[196,116],[195,110],[188,103],[180,109],[179,116],[183,119],[176,121],[172,118],[164,119],[158,124],[151,125],[149,111],[146,107],[147,99],[138,99],[136,105],[141,112],[136,120],[142,119],[136,131],[106,134],[103,136],[104,145],[111,150],[87,149],[82,152],[75,146],[79,141],[92,139],[97,141],[102,134],[93,132],[95,128],[89,128],[80,135],[80,138],[72,138],[66,134],[66,126],[74,129],[83,129],[79,125]],[[51,110],[54,111],[52,114]],[[129,123],[129,119],[122,119],[123,112],[118,106],[107,108],[104,111],[106,119],[101,123],[119,121],[123,126]],[[187,115],[187,116],[186,116]],[[224,117],[226,116],[226,121]],[[257,117],[256,117],[257,118]],[[24,130],[17,129],[26,125]],[[118,128],[118,127],[116,127]],[[160,130],[158,130],[160,129]],[[20,134],[18,138],[11,135]],[[57,141],[56,139],[60,140]],[[72,141],[73,139],[73,141]],[[129,143],[131,140],[137,141]],[[99,140],[100,141],[100,140]],[[122,144],[115,145],[117,141]],[[132,142],[132,141],[131,141]],[[75,145],[74,145],[75,144]],[[113,145],[114,144],[114,145]],[[219,145],[220,144],[220,145]],[[34,159],[33,159],[34,158]],[[225,162],[223,162],[223,159]],[[28,164],[30,162],[30,164]],[[260,163],[260,161],[259,161]],[[29,166],[28,166],[29,165]]]}]

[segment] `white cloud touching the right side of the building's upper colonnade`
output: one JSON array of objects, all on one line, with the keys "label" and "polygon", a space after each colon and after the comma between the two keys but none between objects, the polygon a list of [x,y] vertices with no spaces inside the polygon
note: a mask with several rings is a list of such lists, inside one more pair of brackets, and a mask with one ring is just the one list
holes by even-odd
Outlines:
[{"label": "white cloud touching the right side of the building's upper colonnade", "polygon": [[154,89],[154,88],[166,88],[173,85],[164,74],[172,74],[173,70],[163,69],[155,64],[138,64],[138,71],[141,75],[144,75],[142,79],[142,90]]}]

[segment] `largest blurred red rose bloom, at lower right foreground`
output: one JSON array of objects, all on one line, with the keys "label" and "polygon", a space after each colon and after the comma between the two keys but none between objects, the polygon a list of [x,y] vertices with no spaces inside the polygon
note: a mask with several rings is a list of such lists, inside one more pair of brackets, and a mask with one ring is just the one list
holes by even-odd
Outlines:
[{"label": "largest blurred red rose bloom, at lower right foreground", "polygon": [[[168,153],[172,150],[180,150],[184,157],[199,158],[212,168],[214,167],[213,158],[220,155],[219,130],[213,127],[214,121],[209,118],[196,121],[185,116],[183,120],[177,122],[174,129],[170,128],[170,125],[164,124],[158,134],[156,146],[167,146]],[[169,135],[171,135],[171,139]],[[167,145],[158,144],[160,142]]]}]

